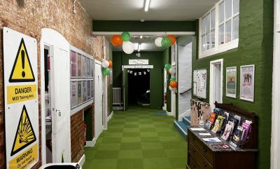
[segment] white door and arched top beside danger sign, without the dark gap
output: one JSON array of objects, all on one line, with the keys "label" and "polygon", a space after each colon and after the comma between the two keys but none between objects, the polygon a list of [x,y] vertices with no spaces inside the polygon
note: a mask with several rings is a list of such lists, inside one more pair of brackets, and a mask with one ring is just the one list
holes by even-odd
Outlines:
[{"label": "white door and arched top beside danger sign, without the dark gap", "polygon": [[52,163],[62,161],[69,163],[71,162],[69,43],[52,29],[42,29],[42,43],[50,46]]}]

